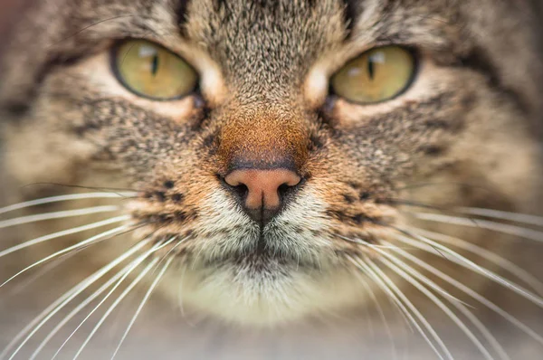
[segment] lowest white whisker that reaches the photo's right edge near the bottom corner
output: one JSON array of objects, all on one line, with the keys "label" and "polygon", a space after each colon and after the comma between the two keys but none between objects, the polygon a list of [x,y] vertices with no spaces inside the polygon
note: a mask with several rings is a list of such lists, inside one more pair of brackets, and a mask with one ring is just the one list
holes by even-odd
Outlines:
[{"label": "lowest white whisker that reaches the photo's right edge near the bottom corner", "polygon": [[488,298],[484,298],[476,291],[468,288],[462,282],[453,279],[451,276],[445,274],[443,271],[438,270],[434,268],[433,266],[428,265],[424,261],[421,261],[416,256],[408,253],[407,251],[403,251],[401,249],[395,249],[395,252],[399,253],[401,256],[405,257],[405,259],[414,262],[416,265],[420,266],[424,270],[427,270],[431,272],[433,275],[437,276],[440,279],[443,279],[444,281],[451,284],[453,287],[460,289],[467,295],[471,296],[472,298],[476,299],[477,301],[481,302],[484,306],[487,308],[490,308],[492,311],[499,314],[501,317],[504,317],[508,321],[510,321],[511,324],[513,324],[516,327],[519,327],[522,331],[524,331],[526,334],[537,340],[539,343],[543,344],[543,337],[539,336],[537,332],[532,330],[530,327],[526,326],[522,322],[520,322],[516,317],[511,316],[507,311],[503,310],[502,308],[498,307],[496,304],[491,302]]}]

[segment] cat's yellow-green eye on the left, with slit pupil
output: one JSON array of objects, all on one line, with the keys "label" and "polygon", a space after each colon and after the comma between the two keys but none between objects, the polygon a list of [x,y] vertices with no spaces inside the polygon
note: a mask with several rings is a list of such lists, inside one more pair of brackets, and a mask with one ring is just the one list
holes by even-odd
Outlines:
[{"label": "cat's yellow-green eye on the left, with slit pupil", "polygon": [[138,95],[152,99],[177,99],[195,90],[196,71],[176,54],[156,43],[130,40],[114,53],[119,81]]}]

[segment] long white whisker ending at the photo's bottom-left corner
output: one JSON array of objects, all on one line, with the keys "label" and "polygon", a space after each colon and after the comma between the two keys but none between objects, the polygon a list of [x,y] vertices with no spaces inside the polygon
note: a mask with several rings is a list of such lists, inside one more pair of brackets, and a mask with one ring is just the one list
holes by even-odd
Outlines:
[{"label": "long white whisker ending at the photo's bottom-left corner", "polygon": [[[0,353],[0,359],[3,359],[5,355],[23,338],[25,334],[28,333],[26,337],[24,337],[24,340],[21,342],[21,344],[14,350],[14,353],[9,357],[9,360],[12,360],[15,355],[23,348],[23,346],[32,338],[32,336],[41,328],[43,325],[51,319],[57,312],[59,312],[66,304],[68,304],[73,298],[76,298],[84,289],[87,289],[90,287],[91,284],[96,282],[98,279],[100,279],[102,276],[104,276],[106,273],[108,273],[111,269],[115,268],[119,263],[122,261],[125,261],[128,259],[131,255],[133,255],[135,252],[139,251],[141,248],[143,248],[148,242],[150,242],[150,239],[142,240],[141,242],[138,242],[136,245],[134,245],[132,248],[130,248],[128,251],[120,255],[117,259],[114,261],[111,261],[108,265],[104,266],[100,270],[94,272],[92,275],[90,275],[88,278],[83,279],[78,285],[71,288],[67,292],[65,292],[60,298],[56,299],[49,307],[45,308],[37,317],[34,317],[33,320],[24,327],[23,330],[21,330],[16,336],[14,336],[14,339],[5,346],[5,349]],[[30,333],[29,333],[30,332]]]}]

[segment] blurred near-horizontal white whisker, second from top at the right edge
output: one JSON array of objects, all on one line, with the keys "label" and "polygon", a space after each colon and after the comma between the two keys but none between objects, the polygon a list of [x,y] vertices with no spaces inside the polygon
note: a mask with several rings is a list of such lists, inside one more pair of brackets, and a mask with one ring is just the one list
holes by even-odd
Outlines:
[{"label": "blurred near-horizontal white whisker, second from top at the right edge", "polygon": [[474,228],[491,230],[493,232],[502,232],[510,235],[519,236],[521,238],[533,240],[535,242],[543,242],[543,232],[526,229],[520,226],[509,225],[507,223],[496,223],[488,220],[463,218],[457,216],[442,215],[439,213],[414,213],[418,219],[435,222],[449,223],[452,225],[461,225]]}]

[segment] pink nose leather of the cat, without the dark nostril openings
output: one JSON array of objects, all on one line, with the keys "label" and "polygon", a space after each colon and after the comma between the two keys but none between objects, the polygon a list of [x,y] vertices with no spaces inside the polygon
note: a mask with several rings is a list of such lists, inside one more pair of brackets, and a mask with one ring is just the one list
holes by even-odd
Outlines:
[{"label": "pink nose leather of the cat, without the dark nostril openings", "polygon": [[274,210],[281,205],[281,186],[288,188],[298,185],[301,178],[287,169],[240,169],[226,175],[224,181],[231,186],[245,185],[247,187],[245,208]]}]

